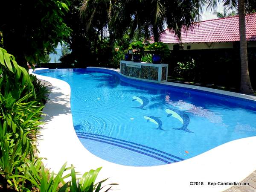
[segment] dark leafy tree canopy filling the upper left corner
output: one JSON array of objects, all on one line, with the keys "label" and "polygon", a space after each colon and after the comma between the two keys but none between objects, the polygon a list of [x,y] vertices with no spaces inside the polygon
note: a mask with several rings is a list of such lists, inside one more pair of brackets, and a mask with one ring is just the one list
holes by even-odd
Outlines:
[{"label": "dark leafy tree canopy filling the upper left corner", "polygon": [[43,59],[70,35],[70,28],[63,22],[68,5],[68,0],[1,2],[0,31],[4,48],[20,64]]}]

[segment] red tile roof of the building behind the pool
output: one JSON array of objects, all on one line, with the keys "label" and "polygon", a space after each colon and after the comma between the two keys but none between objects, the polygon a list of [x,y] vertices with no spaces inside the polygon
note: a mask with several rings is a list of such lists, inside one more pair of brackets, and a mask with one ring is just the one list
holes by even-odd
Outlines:
[{"label": "red tile roof of the building behind the pool", "polygon": [[[246,15],[245,21],[247,41],[256,41],[256,13]],[[201,21],[188,30],[183,30],[181,34],[182,43],[229,42],[239,41],[239,39],[238,16]],[[160,41],[179,43],[174,32],[169,29],[160,34]]]}]

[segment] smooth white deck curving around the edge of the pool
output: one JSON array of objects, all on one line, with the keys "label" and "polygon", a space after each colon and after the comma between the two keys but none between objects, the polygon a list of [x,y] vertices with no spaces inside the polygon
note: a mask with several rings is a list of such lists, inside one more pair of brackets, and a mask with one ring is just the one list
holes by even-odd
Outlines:
[{"label": "smooth white deck curving around the edge of the pool", "polygon": [[[76,171],[82,173],[102,167],[97,181],[110,177],[105,183],[119,183],[113,187],[118,190],[113,192],[221,192],[231,186],[210,186],[207,183],[240,182],[256,170],[256,137],[234,140],[188,160],[163,166],[132,167],[103,160],[87,151],[76,136],[69,84],[51,77],[36,76],[52,84],[52,92],[43,111],[47,116],[38,138],[38,150],[39,157],[46,157],[44,163],[55,172],[65,162],[68,165],[72,163]],[[255,96],[223,90],[170,82],[164,84],[256,100]],[[190,186],[191,181],[204,182],[204,186]]]}]

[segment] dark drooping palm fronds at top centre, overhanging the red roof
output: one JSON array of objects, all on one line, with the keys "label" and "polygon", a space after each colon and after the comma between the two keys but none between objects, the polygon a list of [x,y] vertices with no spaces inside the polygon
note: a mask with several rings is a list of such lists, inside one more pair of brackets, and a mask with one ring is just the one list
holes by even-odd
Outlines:
[{"label": "dark drooping palm fronds at top centre, overhanging the red roof", "polygon": [[180,39],[183,26],[187,28],[199,17],[200,0],[119,0],[114,5],[110,27],[117,37],[137,31],[145,38],[159,41],[165,23]]}]

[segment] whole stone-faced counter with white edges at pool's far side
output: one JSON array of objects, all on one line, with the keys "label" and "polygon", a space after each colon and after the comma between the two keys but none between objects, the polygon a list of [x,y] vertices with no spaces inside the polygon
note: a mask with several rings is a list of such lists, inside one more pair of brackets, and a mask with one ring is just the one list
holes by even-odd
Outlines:
[{"label": "whole stone-faced counter with white edges at pool's far side", "polygon": [[167,81],[168,64],[120,61],[120,72],[132,79],[162,83]]}]

